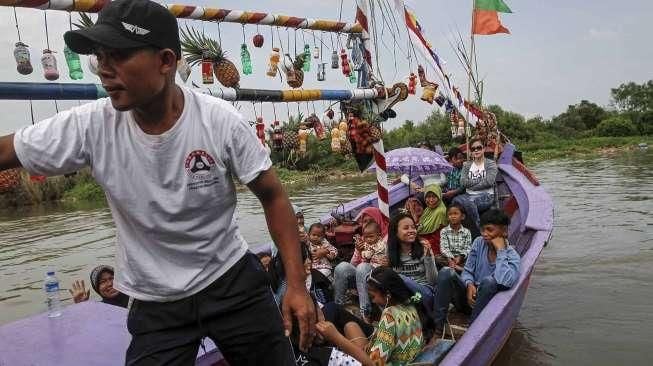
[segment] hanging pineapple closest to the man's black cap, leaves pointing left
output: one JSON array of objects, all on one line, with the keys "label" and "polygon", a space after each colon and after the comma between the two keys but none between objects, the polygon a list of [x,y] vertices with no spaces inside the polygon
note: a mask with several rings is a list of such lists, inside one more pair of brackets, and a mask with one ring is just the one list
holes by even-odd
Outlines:
[{"label": "hanging pineapple closest to the man's black cap, leaves pointing left", "polygon": [[240,74],[233,62],[226,58],[226,52],[214,39],[207,37],[188,26],[181,28],[181,50],[190,65],[202,62],[202,55],[209,57],[213,62],[213,73],[218,81],[227,88],[237,88],[240,83]]}]

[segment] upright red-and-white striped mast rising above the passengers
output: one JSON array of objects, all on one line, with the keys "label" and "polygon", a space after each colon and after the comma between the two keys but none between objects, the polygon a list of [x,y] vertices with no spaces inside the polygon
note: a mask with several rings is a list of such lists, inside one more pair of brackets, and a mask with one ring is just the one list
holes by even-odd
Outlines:
[{"label": "upright red-and-white striped mast rising above the passengers", "polygon": [[[362,80],[371,80],[372,75],[372,51],[370,42],[370,29],[369,29],[369,7],[367,0],[356,0],[356,22],[362,27],[361,38],[363,43],[363,60],[365,67],[363,72],[369,73],[368,77],[361,77]],[[363,85],[367,86],[367,85]],[[389,220],[390,219],[390,204],[388,194],[388,173],[385,161],[385,150],[383,148],[383,139],[375,142],[374,147],[374,161],[376,162],[376,192],[378,195],[379,210]]]}]

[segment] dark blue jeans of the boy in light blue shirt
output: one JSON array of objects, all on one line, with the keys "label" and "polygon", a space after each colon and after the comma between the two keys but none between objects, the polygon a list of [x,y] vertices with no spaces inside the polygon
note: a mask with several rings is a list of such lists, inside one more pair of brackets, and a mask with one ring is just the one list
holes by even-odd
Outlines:
[{"label": "dark blue jeans of the boy in light blue shirt", "polygon": [[435,294],[435,327],[443,329],[449,312],[449,303],[462,313],[470,314],[470,323],[476,320],[483,308],[492,300],[503,286],[497,284],[492,276],[481,280],[476,288],[476,304],[471,308],[467,303],[467,287],[455,270],[445,267],[438,273],[438,287]]}]

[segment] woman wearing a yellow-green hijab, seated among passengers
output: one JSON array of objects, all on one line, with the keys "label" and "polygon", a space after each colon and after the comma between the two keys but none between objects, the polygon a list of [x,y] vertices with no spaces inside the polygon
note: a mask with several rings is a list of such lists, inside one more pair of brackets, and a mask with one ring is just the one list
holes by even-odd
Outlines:
[{"label": "woman wearing a yellow-green hijab, seated among passengers", "polygon": [[442,188],[437,184],[424,187],[424,201],[426,208],[419,218],[417,234],[420,239],[429,242],[433,255],[439,256],[440,230],[448,224],[447,207],[442,201]]}]

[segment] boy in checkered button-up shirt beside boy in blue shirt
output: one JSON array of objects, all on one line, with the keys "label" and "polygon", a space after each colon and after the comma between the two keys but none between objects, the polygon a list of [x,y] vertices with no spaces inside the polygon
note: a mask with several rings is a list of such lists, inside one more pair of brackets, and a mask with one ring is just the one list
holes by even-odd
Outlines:
[{"label": "boy in checkered button-up shirt beside boy in blue shirt", "polygon": [[449,268],[462,273],[465,259],[472,248],[472,234],[462,225],[465,210],[454,203],[447,209],[449,225],[440,231],[440,249],[442,258]]}]

